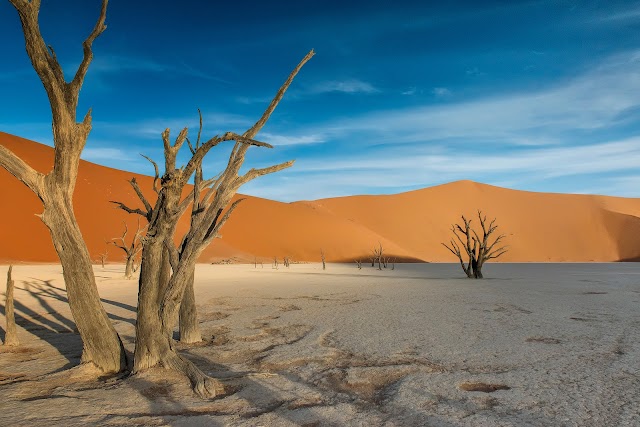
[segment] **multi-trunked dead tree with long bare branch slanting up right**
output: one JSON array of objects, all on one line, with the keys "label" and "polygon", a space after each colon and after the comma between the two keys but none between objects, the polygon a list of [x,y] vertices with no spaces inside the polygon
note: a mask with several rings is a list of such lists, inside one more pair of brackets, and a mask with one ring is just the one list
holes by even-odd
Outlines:
[{"label": "multi-trunked dead tree with long bare branch slanting up right", "polygon": [[[293,78],[312,56],[313,51],[309,52],[291,72],[262,117],[250,129],[242,135],[226,132],[202,144],[198,137],[191,158],[181,168],[176,165],[176,157],[187,141],[187,129],[179,133],[173,144],[169,129],[165,130],[162,134],[165,172],[162,178],[156,173],[155,204],[152,206],[138,188],[136,194],[142,201],[144,210],[121,205],[123,209],[139,213],[149,221],[140,266],[134,372],[164,366],[184,373],[191,380],[194,391],[200,396],[209,397],[224,393],[224,387],[219,381],[208,377],[176,352],[172,339],[173,329],[178,322],[180,306],[184,304],[185,291],[195,271],[198,256],[213,239],[219,237],[221,227],[242,201],[238,199],[232,202],[238,189],[259,176],[293,165],[293,161],[289,161],[263,169],[250,169],[244,175],[239,175],[250,146],[272,148],[271,145],[254,138],[271,116]],[[191,194],[182,199],[183,190],[191,176],[201,167],[204,156],[213,147],[225,141],[235,141],[235,145],[224,171],[210,180],[202,194],[201,184],[204,181],[201,181],[201,177],[198,178],[196,173]],[[154,167],[157,171],[155,163]],[[175,247],[175,228],[186,209],[185,206],[189,205],[192,205],[191,225],[180,245]],[[166,266],[165,259],[168,259],[170,269],[163,268]]]}]

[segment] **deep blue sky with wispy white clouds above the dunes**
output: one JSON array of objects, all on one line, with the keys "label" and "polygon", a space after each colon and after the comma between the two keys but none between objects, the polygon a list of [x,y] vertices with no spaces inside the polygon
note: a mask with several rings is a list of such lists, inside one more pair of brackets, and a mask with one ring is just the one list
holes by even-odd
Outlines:
[{"label": "deep blue sky with wispy white clouds above the dunes", "polygon": [[[43,0],[69,75],[99,0]],[[149,174],[160,133],[242,132],[302,69],[248,167],[296,159],[241,192],[292,201],[460,179],[640,197],[640,1],[122,1],[81,92],[83,158]],[[0,130],[51,144],[19,19],[0,2]],[[205,174],[225,164],[213,151]]]}]

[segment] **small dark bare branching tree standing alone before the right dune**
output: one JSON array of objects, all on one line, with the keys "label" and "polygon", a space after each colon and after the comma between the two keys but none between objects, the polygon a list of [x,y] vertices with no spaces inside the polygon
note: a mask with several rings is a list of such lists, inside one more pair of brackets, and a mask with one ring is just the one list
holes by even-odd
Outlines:
[{"label": "small dark bare branching tree standing alone before the right dune", "polygon": [[483,216],[480,210],[478,210],[478,219],[482,228],[482,237],[471,227],[471,220],[462,215],[464,225],[453,224],[451,231],[454,238],[449,241],[449,245],[442,243],[445,248],[458,257],[462,270],[470,279],[482,279],[484,263],[507,252],[506,246],[499,245],[505,238],[504,234],[491,241],[493,238],[491,235],[498,228],[495,223],[496,219],[494,218],[487,225],[487,217]]}]

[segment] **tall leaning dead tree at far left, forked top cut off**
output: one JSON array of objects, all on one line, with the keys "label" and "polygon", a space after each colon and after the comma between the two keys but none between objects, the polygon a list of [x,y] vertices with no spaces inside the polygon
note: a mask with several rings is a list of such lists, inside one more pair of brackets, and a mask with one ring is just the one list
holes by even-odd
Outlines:
[{"label": "tall leaning dead tree at far left, forked top cut off", "polygon": [[91,257],[73,211],[73,192],[80,154],[91,131],[91,110],[76,121],[78,97],[93,59],[92,45],[106,29],[108,0],[102,0],[98,20],[83,42],[83,57],[67,82],[55,51],[47,46],[38,23],[40,0],[9,0],[18,11],[29,59],[49,98],[52,113],[54,163],[43,174],[0,145],[0,166],[22,181],[42,201],[40,215],[48,227],[62,264],[69,307],[80,337],[82,362],[93,363],[104,372],[127,366],[126,354],[113,325],[100,303]]}]

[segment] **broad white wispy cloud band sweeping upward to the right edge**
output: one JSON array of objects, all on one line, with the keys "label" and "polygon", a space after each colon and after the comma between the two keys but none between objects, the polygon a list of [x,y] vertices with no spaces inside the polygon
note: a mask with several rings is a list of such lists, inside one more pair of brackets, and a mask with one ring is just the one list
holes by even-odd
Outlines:
[{"label": "broad white wispy cloud band sweeping upward to the right edge", "polygon": [[546,90],[374,111],[328,123],[325,130],[336,135],[368,132],[375,134],[374,143],[468,138],[546,144],[620,124],[625,114],[639,107],[640,51],[632,51]]}]

